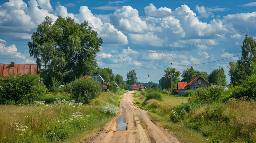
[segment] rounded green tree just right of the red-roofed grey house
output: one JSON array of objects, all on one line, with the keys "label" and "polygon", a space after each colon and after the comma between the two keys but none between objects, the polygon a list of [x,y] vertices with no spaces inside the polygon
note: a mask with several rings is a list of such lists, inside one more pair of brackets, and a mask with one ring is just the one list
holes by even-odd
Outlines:
[{"label": "rounded green tree just right of the red-roofed grey house", "polygon": [[224,73],[223,67],[219,67],[219,69],[214,69],[209,75],[208,81],[213,85],[227,85],[226,75]]}]

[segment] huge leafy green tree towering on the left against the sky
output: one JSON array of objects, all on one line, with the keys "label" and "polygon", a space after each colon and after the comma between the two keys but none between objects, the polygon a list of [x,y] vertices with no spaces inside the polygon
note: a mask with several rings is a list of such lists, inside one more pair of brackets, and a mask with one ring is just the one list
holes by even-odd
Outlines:
[{"label": "huge leafy green tree towering on the left against the sky", "polygon": [[103,43],[97,32],[84,21],[47,16],[33,32],[32,42],[28,42],[30,56],[36,59],[45,84],[52,77],[58,81],[70,82],[81,75],[90,75],[97,66],[96,53]]}]

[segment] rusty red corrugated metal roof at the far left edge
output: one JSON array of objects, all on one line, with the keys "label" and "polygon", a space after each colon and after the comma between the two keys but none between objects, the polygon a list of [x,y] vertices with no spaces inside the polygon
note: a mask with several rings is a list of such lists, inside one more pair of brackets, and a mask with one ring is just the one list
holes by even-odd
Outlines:
[{"label": "rusty red corrugated metal roof at the far left edge", "polygon": [[31,72],[32,74],[37,73],[37,64],[14,64],[14,67],[10,67],[11,64],[0,63],[0,75],[5,76],[8,74],[27,74]]}]

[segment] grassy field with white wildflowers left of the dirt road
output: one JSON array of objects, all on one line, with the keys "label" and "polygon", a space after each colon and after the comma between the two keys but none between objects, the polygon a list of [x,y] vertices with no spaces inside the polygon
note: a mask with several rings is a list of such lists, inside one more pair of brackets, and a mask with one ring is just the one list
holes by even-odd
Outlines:
[{"label": "grassy field with white wildflowers left of the dirt road", "polygon": [[115,117],[116,111],[103,108],[118,107],[123,93],[102,92],[88,105],[66,100],[51,105],[0,105],[0,142],[81,142]]}]

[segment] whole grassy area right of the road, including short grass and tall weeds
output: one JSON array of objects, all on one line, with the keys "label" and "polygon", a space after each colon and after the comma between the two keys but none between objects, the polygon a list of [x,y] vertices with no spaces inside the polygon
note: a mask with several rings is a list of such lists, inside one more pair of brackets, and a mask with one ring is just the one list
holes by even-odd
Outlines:
[{"label": "whole grassy area right of the road, including short grass and tall weeds", "polygon": [[[189,103],[186,97],[149,99],[133,94],[135,103],[185,143],[256,142],[256,103],[233,99],[227,103]],[[145,94],[146,95],[146,94]]]}]

